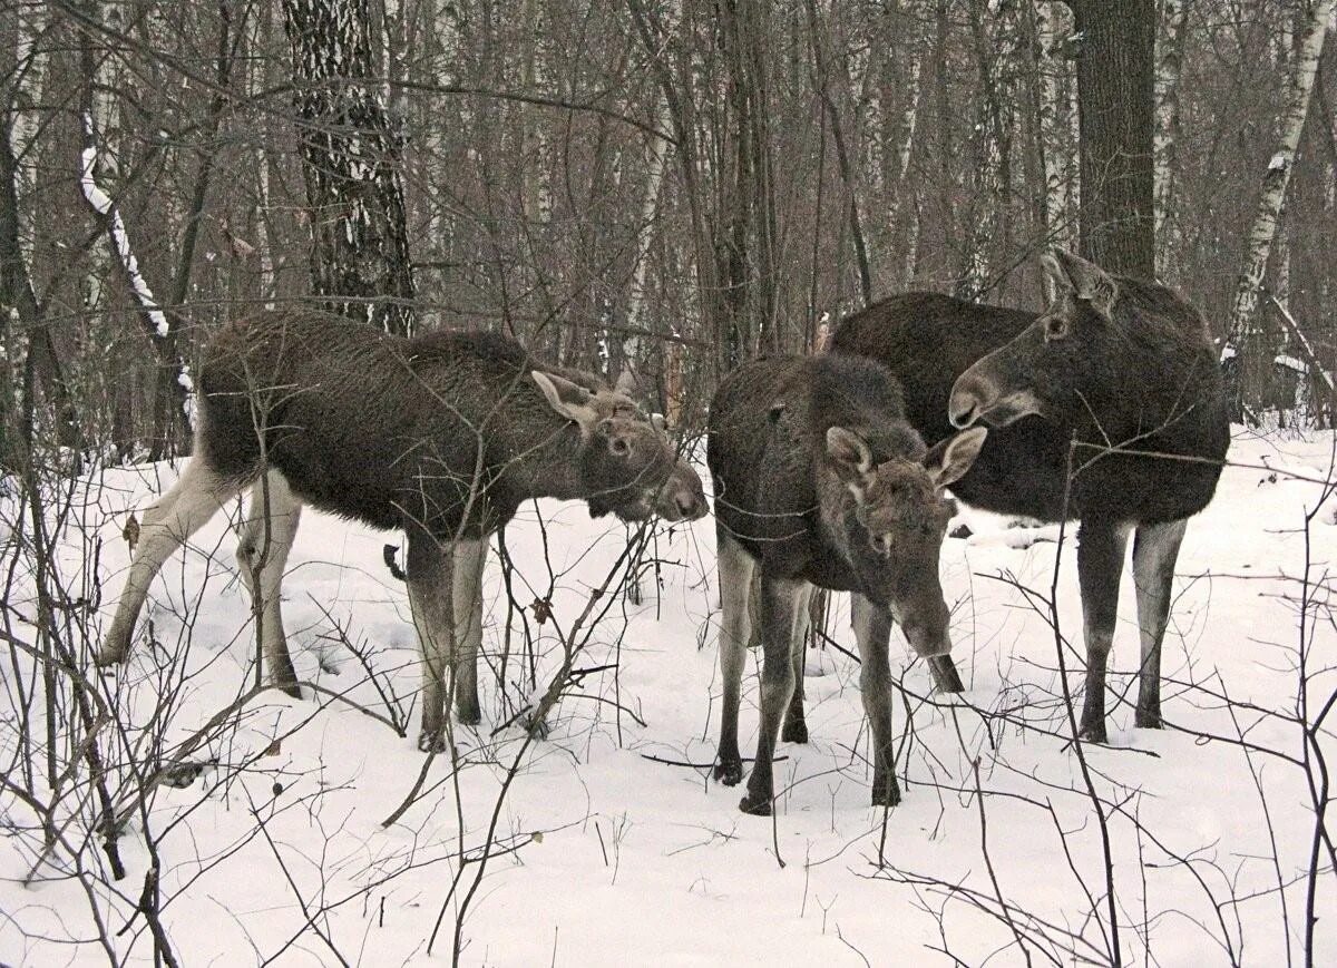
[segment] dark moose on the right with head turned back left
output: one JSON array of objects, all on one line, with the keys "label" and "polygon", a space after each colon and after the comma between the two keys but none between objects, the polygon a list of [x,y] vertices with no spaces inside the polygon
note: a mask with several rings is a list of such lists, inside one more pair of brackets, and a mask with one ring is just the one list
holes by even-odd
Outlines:
[{"label": "dark moose on the right with head turned back left", "polygon": [[1161,646],[1187,519],[1211,500],[1230,444],[1221,376],[1199,313],[1166,286],[1043,257],[1043,312],[909,293],[837,329],[832,352],[886,365],[929,444],[988,424],[952,485],[967,504],[1078,520],[1087,677],[1080,735],[1106,742],[1106,666],[1130,533],[1142,638],[1136,726],[1161,718]]}]

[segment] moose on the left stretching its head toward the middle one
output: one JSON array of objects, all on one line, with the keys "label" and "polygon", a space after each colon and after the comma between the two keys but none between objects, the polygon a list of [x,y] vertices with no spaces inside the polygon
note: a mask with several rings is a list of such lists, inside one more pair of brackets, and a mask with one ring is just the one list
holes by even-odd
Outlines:
[{"label": "moose on the left stretching its head toward the middle one", "polygon": [[267,524],[253,515],[242,547],[262,548],[273,681],[297,694],[277,591],[301,505],[401,529],[424,664],[418,745],[440,749],[447,664],[459,658],[455,559],[481,558],[488,535],[531,497],[583,499],[592,515],[644,520],[675,465],[667,437],[627,397],[531,362],[497,334],[402,338],[310,309],[225,326],[201,365],[194,456],[144,515],[99,664],[128,656],[167,558],[254,485]]}]

